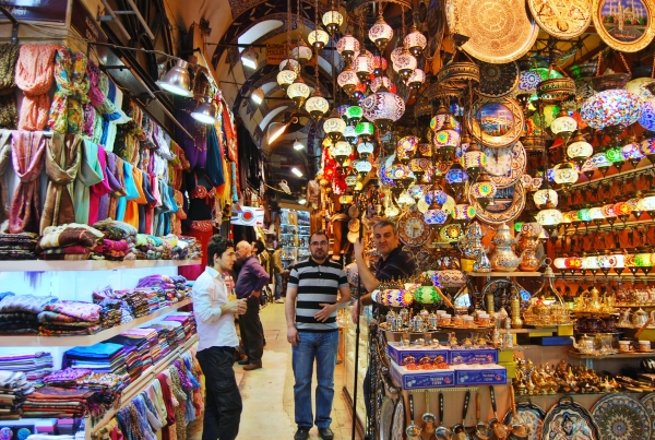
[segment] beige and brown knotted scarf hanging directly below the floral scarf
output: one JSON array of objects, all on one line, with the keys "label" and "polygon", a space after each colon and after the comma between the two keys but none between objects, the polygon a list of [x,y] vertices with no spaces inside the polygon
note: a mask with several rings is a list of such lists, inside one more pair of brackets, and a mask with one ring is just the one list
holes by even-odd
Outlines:
[{"label": "beige and brown knotted scarf hanging directly below the floral scarf", "polygon": [[46,146],[46,175],[48,189],[40,221],[40,231],[48,226],[66,225],[75,222],[73,209],[73,181],[80,170],[80,145],[82,138],[57,132]]}]

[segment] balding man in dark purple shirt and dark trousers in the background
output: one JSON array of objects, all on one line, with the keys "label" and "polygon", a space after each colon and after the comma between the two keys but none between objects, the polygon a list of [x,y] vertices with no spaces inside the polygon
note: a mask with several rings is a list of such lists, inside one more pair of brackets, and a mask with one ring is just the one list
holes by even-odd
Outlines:
[{"label": "balding man in dark purple shirt and dark trousers in the background", "polygon": [[264,331],[259,309],[262,288],[269,283],[269,275],[257,257],[252,254],[252,248],[248,241],[237,243],[237,258],[243,262],[243,266],[239,272],[235,290],[237,298],[245,298],[248,305],[246,313],[239,318],[241,342],[248,358],[239,360],[239,365],[242,365],[246,371],[251,371],[262,368]]}]

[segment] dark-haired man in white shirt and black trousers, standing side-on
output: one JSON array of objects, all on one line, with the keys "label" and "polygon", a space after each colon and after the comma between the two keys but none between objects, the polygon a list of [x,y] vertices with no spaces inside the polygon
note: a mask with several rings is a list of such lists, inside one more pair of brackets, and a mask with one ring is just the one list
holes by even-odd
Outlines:
[{"label": "dark-haired man in white shirt and black trousers, standing side-on", "polygon": [[215,235],[207,245],[211,264],[193,285],[198,328],[198,361],[205,376],[206,396],[202,440],[234,440],[239,433],[241,394],[235,379],[235,347],[239,338],[235,314],[246,312],[246,299],[228,299],[224,274],[236,261],[235,243]]}]

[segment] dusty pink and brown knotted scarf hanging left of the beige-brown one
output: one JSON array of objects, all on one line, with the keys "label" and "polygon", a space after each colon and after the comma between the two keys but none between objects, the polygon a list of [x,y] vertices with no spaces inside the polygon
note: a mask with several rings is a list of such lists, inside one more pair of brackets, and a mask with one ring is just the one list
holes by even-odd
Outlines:
[{"label": "dusty pink and brown knotted scarf hanging left of the beige-brown one", "polygon": [[37,233],[39,217],[39,175],[44,168],[46,138],[40,131],[12,131],[12,163],[21,179],[11,201],[9,231]]}]

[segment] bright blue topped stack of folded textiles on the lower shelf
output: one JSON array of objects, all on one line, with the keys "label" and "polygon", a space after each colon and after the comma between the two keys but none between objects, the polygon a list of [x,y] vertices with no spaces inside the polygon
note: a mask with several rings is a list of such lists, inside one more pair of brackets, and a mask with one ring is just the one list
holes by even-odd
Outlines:
[{"label": "bright blue topped stack of folded textiles on the lower shelf", "polygon": [[63,354],[61,367],[90,369],[93,372],[110,372],[118,376],[128,373],[123,346],[110,342],[67,350]]}]

